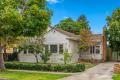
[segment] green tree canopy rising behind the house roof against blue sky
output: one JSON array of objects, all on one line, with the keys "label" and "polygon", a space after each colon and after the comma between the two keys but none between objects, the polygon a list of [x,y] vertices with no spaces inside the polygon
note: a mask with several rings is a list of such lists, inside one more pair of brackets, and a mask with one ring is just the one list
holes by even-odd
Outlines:
[{"label": "green tree canopy rising behind the house roof against blue sky", "polygon": [[81,15],[76,21],[73,20],[72,18],[61,20],[58,24],[55,25],[55,27],[61,28],[65,31],[68,31],[77,35],[80,34],[80,30],[82,30],[83,28],[90,29],[87,18],[84,15]]}]

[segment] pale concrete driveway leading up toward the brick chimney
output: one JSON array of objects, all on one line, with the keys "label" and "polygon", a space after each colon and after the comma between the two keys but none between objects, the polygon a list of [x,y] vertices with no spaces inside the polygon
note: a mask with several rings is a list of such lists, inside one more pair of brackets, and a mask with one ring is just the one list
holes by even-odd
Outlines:
[{"label": "pale concrete driveway leading up toward the brick chimney", "polygon": [[83,73],[59,80],[112,80],[115,63],[101,63]]}]

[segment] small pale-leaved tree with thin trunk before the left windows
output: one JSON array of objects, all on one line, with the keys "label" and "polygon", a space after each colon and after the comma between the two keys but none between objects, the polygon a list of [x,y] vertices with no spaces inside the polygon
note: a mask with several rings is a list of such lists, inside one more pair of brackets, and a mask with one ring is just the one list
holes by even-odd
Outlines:
[{"label": "small pale-leaved tree with thin trunk before the left windows", "polygon": [[38,54],[42,54],[44,51],[44,44],[43,44],[44,38],[42,36],[40,37],[32,37],[26,39],[22,44],[19,45],[20,50],[29,50],[34,54],[36,63],[39,62],[38,60]]}]

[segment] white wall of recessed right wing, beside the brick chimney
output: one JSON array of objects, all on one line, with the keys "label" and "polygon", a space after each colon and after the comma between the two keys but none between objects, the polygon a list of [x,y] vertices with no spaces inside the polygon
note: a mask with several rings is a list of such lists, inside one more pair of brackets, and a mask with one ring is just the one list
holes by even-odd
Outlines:
[{"label": "white wall of recessed right wing, beside the brick chimney", "polygon": [[86,60],[90,60],[90,59],[94,59],[94,60],[102,60],[102,43],[99,44],[100,46],[100,53],[99,54],[91,54],[90,53],[90,49],[88,49],[87,51],[82,51],[80,53],[80,59],[86,59]]}]

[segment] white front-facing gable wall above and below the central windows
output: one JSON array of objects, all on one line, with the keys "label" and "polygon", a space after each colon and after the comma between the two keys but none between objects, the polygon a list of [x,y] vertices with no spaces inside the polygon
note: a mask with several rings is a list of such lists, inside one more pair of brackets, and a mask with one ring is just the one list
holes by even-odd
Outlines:
[{"label": "white front-facing gable wall above and below the central windows", "polygon": [[[44,38],[45,38],[44,44],[48,44],[48,45],[62,44],[64,50],[68,48],[68,40],[67,40],[68,36],[58,31],[51,30],[44,36]],[[52,53],[52,55],[50,56],[50,60],[48,62],[49,63],[64,63],[64,56],[62,54],[59,54],[59,52]]]}]

